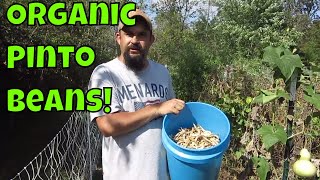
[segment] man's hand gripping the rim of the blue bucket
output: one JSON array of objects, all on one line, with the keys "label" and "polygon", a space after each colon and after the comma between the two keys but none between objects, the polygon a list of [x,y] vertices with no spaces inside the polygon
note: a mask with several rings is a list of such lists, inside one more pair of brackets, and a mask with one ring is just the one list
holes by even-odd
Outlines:
[{"label": "man's hand gripping the rim of the blue bucket", "polygon": [[171,99],[160,104],[157,104],[159,116],[164,116],[169,113],[178,114],[184,108],[185,102],[181,99]]}]

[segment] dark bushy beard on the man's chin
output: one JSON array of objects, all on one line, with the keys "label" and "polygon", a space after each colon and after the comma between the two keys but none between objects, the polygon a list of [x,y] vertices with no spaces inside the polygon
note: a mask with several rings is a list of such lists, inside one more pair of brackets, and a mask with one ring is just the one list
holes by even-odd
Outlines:
[{"label": "dark bushy beard on the man's chin", "polygon": [[139,72],[145,67],[145,53],[140,49],[140,55],[134,57],[129,55],[129,51],[123,54],[126,66],[134,72]]}]

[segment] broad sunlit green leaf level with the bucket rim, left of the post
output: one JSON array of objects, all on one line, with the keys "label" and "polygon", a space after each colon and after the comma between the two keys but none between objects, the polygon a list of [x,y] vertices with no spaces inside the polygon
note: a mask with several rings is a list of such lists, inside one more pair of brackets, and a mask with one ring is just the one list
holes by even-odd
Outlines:
[{"label": "broad sunlit green leaf level with the bucket rim, left of the post", "polygon": [[258,130],[258,134],[262,137],[262,142],[267,150],[278,142],[285,144],[287,141],[287,134],[279,125],[263,125]]}]

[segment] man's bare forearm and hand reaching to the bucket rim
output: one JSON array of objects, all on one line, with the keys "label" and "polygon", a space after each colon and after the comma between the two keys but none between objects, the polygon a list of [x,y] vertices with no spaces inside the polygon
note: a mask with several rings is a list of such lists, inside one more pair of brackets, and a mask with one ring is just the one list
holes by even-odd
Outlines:
[{"label": "man's bare forearm and hand reaching to the bucket rim", "polygon": [[108,136],[119,136],[134,131],[148,122],[168,113],[178,114],[185,102],[171,99],[162,103],[152,104],[135,112],[116,112],[96,118],[100,132]]}]

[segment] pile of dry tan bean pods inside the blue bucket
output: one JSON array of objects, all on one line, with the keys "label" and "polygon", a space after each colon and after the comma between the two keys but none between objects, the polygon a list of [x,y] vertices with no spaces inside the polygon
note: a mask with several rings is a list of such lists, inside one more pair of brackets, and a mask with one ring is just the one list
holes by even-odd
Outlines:
[{"label": "pile of dry tan bean pods inside the blue bucket", "polygon": [[217,135],[195,124],[192,128],[180,128],[173,139],[178,145],[191,149],[209,148],[220,142]]}]

